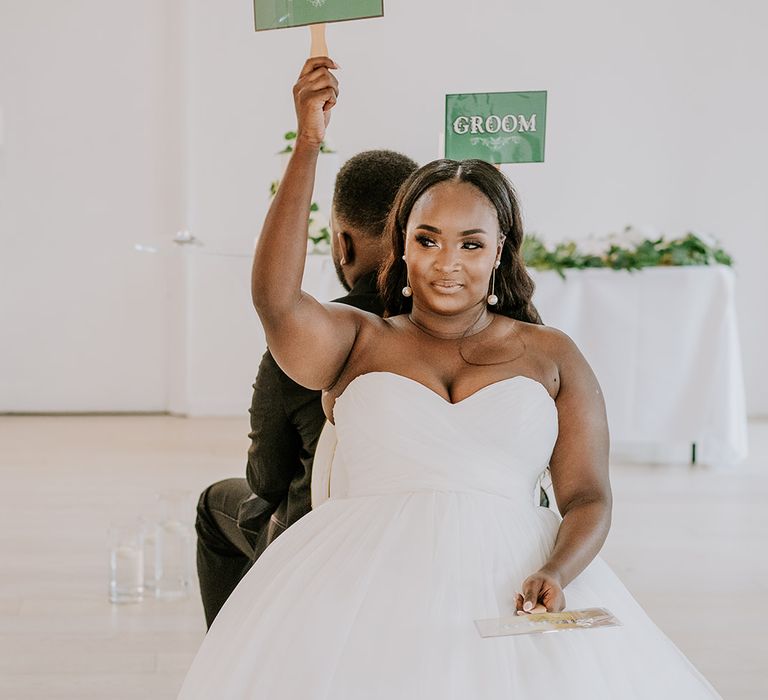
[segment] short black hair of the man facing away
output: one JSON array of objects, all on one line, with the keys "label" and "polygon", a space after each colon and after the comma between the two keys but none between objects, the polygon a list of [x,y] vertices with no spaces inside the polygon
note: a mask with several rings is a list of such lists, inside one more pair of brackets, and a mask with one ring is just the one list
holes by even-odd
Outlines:
[{"label": "short black hair of the man facing away", "polygon": [[418,167],[395,151],[363,151],[352,156],[336,176],[336,217],[368,236],[380,236],[400,185]]}]

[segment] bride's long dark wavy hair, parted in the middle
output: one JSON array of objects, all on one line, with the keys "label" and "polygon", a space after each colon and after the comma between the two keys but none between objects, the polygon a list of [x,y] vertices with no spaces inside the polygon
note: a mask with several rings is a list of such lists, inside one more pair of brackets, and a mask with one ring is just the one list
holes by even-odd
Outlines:
[{"label": "bride's long dark wavy hair, parted in the middle", "polygon": [[411,298],[402,294],[407,275],[403,261],[405,228],[411,209],[430,187],[449,180],[467,182],[480,190],[496,208],[499,230],[506,236],[501,265],[496,271],[495,294],[499,301],[490,310],[519,321],[540,324],[541,317],[531,301],[533,280],[525,269],[521,252],[523,222],[515,191],[495,166],[482,160],[436,160],[419,168],[403,183],[383,234],[390,241],[389,255],[379,272],[379,292],[385,315],[409,313],[412,306]]}]

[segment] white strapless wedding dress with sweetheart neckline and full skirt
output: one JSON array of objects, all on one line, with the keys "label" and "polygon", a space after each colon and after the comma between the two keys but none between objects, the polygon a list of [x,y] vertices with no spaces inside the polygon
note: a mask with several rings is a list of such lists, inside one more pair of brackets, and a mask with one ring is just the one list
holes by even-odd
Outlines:
[{"label": "white strapless wedding dress with sweetheart neckline and full skirt", "polygon": [[559,518],[535,505],[557,410],[526,377],[457,404],[389,372],[335,407],[348,495],[266,550],[206,636],[180,697],[263,700],[716,698],[599,558],[569,609],[623,626],[483,639],[513,614]]}]

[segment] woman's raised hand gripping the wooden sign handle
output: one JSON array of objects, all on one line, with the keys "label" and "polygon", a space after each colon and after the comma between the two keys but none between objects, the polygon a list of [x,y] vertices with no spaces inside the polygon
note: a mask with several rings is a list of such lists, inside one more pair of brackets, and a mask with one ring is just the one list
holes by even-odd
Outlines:
[{"label": "woman's raised hand gripping the wooden sign handle", "polygon": [[327,56],[310,58],[293,86],[298,119],[296,141],[319,147],[331,120],[331,109],[339,97],[339,81],[331,70],[338,68]]}]

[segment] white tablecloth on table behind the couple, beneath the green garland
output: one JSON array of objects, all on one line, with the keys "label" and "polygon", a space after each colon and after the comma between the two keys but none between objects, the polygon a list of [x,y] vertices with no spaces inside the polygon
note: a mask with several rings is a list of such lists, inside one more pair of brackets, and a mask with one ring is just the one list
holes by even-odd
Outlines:
[{"label": "white tablecloth on table behind the couple, beneath the green garland", "polygon": [[[614,454],[727,466],[747,455],[747,417],[730,268],[640,272],[531,270],[534,302],[565,331],[605,394]],[[309,256],[304,288],[343,293],[325,256]]]}]

